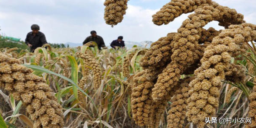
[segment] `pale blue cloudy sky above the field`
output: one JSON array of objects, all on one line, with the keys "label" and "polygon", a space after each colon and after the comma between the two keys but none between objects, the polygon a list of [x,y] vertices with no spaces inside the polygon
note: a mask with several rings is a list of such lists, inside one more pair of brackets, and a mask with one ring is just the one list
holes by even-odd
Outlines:
[{"label": "pale blue cloudy sky above the field", "polygon": [[[236,9],[249,23],[256,24],[256,0],[214,0]],[[156,41],[169,32],[176,32],[188,14],[168,25],[152,23],[152,15],[170,0],[129,0],[122,23],[114,28],[105,24],[104,0],[0,0],[0,33],[17,38],[25,37],[32,24],[38,24],[50,43],[82,43],[96,30],[107,46],[117,36],[127,41]],[[211,22],[207,27],[218,27]]]}]

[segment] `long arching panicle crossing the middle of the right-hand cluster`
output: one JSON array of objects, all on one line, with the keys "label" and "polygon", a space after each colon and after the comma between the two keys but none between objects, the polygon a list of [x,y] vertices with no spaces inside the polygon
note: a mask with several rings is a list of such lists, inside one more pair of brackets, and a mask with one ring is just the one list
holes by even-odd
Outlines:
[{"label": "long arching panicle crossing the middle of the right-hand cluster", "polygon": [[[225,11],[223,11],[225,10]],[[210,21],[226,21],[232,24],[243,23],[243,15],[238,14],[234,9],[223,7],[213,2],[212,6],[203,6],[190,14],[172,41],[171,63],[166,70],[158,76],[158,81],[154,85],[153,100],[158,101],[168,95],[172,87],[177,85],[177,81],[188,65],[197,62],[203,55],[203,49],[199,45],[203,28]],[[207,17],[207,18],[206,18]],[[226,24],[225,24],[226,25]]]}]

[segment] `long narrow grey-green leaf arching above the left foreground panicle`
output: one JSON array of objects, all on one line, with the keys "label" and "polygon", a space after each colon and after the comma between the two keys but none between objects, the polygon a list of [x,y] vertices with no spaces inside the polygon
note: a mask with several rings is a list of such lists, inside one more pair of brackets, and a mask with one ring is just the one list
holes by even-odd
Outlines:
[{"label": "long narrow grey-green leaf arching above the left foreground panicle", "polygon": [[47,69],[45,69],[45,68],[42,68],[41,66],[25,65],[25,64],[22,64],[22,65],[26,66],[27,68],[31,68],[32,70],[41,71],[41,72],[43,72],[43,73],[48,73],[48,74],[53,74],[53,75],[55,75],[55,76],[61,77],[62,79],[65,79],[66,81],[69,81],[71,84],[73,84],[74,86],[76,86],[76,87],[78,88],[78,90],[80,90],[84,95],[86,95],[86,96],[89,98],[90,101],[92,101],[93,106],[95,107],[96,111],[98,112],[98,109],[97,109],[95,103],[93,102],[92,98],[91,98],[87,93],[85,93],[84,90],[82,90],[81,88],[79,88],[78,85],[77,85],[74,81],[72,81],[71,79],[68,79],[67,77],[62,76],[62,75],[60,75],[60,74],[54,73],[53,71],[47,70]]}]

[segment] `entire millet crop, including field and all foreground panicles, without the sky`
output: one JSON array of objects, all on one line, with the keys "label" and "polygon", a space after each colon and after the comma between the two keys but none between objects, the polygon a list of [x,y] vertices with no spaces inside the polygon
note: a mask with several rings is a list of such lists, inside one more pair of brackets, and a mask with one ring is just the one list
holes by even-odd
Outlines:
[{"label": "entire millet crop, including field and all foreground panicles, without the sky", "polygon": [[[104,2],[106,24],[127,2]],[[212,0],[171,0],[153,23],[185,13],[149,49],[1,48],[0,128],[256,128],[256,25]]]}]

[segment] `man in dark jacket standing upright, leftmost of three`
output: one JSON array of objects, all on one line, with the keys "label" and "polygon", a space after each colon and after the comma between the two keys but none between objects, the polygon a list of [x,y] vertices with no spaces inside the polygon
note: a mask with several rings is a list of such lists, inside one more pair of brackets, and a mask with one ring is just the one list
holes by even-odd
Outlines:
[{"label": "man in dark jacket standing upright, leftmost of three", "polygon": [[34,52],[37,47],[42,47],[47,44],[44,33],[39,32],[40,27],[36,24],[31,26],[32,32],[27,34],[26,44],[30,47],[30,51]]}]

